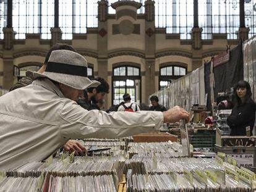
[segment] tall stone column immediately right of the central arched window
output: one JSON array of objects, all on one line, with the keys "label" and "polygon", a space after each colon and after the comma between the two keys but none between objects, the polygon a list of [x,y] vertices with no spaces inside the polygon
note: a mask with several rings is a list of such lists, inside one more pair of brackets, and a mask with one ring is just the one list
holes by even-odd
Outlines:
[{"label": "tall stone column immediately right of the central arched window", "polygon": [[148,103],[150,94],[155,93],[155,1],[145,1],[145,94],[142,102]]}]

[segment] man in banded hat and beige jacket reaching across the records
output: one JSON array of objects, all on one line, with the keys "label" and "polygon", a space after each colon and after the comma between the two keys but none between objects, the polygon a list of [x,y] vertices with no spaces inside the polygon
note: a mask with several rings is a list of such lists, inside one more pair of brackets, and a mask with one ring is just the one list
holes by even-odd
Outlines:
[{"label": "man in banded hat and beige jacket reaching across the records", "polygon": [[120,138],[188,119],[181,107],[165,112],[87,111],[77,99],[100,83],[87,78],[87,61],[76,52],[51,53],[45,72],[31,85],[0,97],[0,169],[42,161],[76,138]]}]

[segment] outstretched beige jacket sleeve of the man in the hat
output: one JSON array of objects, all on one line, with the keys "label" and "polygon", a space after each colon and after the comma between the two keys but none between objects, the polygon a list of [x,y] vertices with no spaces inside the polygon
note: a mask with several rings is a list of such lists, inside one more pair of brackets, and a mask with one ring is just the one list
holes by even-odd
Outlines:
[{"label": "outstretched beige jacket sleeve of the man in the hat", "polygon": [[66,99],[62,103],[59,127],[66,138],[121,138],[158,130],[163,125],[162,112],[87,111]]}]

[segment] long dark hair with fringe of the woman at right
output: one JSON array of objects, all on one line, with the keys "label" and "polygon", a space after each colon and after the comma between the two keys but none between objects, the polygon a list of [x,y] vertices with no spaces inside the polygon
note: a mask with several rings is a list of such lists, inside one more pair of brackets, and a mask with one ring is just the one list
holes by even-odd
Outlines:
[{"label": "long dark hair with fringe of the woman at right", "polygon": [[250,90],[250,84],[247,81],[240,80],[234,87],[234,106],[241,106],[241,104],[243,104],[241,98],[239,98],[236,93],[236,90],[239,88],[246,88],[244,103],[252,97],[252,90]]}]

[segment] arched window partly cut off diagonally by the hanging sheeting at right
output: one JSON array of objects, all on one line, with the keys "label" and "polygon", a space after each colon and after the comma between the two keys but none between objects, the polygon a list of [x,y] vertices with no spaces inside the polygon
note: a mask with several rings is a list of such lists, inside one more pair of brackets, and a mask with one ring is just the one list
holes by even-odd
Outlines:
[{"label": "arched window partly cut off diagonally by the hanging sheeting at right", "polygon": [[176,80],[177,78],[180,78],[186,74],[186,67],[180,67],[176,65],[161,67],[159,77],[159,90],[162,90],[165,86],[171,83],[171,81]]}]

